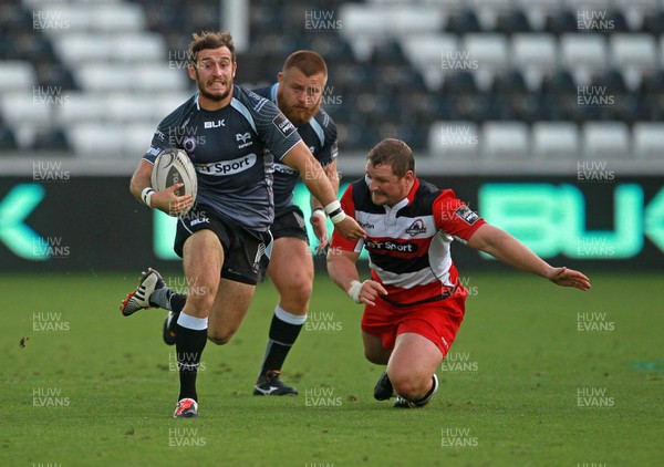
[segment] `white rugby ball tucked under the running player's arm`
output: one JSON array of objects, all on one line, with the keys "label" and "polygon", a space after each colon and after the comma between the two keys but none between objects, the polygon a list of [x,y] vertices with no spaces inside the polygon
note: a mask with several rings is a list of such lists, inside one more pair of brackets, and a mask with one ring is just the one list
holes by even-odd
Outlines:
[{"label": "white rugby ball tucked under the running player's arm", "polygon": [[[184,184],[184,187],[178,188],[175,194],[178,196],[191,195],[194,203],[196,203],[196,194],[198,193],[196,169],[191,159],[183,149],[168,148],[159,153],[153,166],[151,183],[157,191],[163,191],[175,184]],[[180,212],[180,216],[187,214],[191,206]]]}]

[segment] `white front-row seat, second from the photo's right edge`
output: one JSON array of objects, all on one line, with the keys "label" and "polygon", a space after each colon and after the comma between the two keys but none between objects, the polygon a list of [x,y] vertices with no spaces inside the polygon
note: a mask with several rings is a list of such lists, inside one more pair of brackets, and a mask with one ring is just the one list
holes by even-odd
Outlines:
[{"label": "white front-row seat, second from the photo's right edge", "polygon": [[582,158],[591,160],[630,157],[630,129],[624,122],[587,122],[581,126]]}]

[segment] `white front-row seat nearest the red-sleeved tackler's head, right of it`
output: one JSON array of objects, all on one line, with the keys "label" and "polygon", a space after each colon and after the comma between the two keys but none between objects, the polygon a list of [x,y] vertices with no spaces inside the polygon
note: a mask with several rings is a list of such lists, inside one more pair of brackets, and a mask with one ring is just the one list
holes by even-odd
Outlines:
[{"label": "white front-row seat nearest the red-sleeved tackler's head, right of it", "polygon": [[434,122],[429,126],[428,148],[432,157],[443,160],[473,160],[479,155],[479,129],[467,121]]}]

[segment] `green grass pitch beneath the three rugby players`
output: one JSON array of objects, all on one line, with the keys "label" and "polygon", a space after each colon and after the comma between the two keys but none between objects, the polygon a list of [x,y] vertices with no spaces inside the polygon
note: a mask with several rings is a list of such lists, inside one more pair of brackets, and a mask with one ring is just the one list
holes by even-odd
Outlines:
[{"label": "green grass pitch beneath the three rugby players", "polygon": [[117,311],[134,274],[3,276],[0,465],[664,465],[664,276],[590,276],[588,293],[467,276],[465,322],[419,411],[373,399],[361,309],[324,274],[283,369],[300,395],[252,396],[277,300],[261,284],[234,340],[208,343],[188,421],[172,418],[165,312]]}]

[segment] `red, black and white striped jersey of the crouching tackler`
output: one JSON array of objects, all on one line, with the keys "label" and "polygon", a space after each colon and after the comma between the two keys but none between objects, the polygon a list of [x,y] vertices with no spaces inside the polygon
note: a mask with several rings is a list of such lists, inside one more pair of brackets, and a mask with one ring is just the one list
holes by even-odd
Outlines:
[{"label": "red, black and white striped jersey of the crouching tackler", "polygon": [[465,243],[486,222],[453,190],[415,178],[408,196],[391,208],[375,205],[366,179],[361,179],[349,186],[341,205],[366,231],[366,239],[346,240],[335,230],[331,247],[355,252],[365,248],[372,279],[387,290],[386,301],[413,305],[463,287],[450,243],[454,239]]}]

